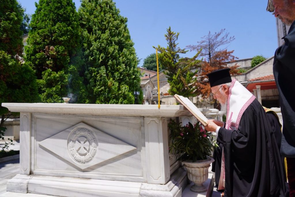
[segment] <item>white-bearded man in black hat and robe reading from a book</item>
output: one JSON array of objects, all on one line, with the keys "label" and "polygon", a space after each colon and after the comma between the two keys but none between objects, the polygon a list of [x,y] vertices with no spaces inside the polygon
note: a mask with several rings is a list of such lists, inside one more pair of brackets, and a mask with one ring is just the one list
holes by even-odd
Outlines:
[{"label": "white-bearded man in black hat and robe reading from a book", "polygon": [[288,195],[275,133],[256,97],[230,69],[208,75],[212,94],[227,111],[226,122],[209,120],[207,131],[217,133],[221,144],[218,190],[227,197]]}]

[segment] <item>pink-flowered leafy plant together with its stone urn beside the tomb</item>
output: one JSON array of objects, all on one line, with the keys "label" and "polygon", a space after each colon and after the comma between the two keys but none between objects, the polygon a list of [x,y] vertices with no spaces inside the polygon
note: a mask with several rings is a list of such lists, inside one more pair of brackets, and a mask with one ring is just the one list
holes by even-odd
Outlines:
[{"label": "pink-flowered leafy plant together with its stone urn beside the tomb", "polygon": [[200,122],[194,125],[189,122],[186,126],[181,124],[172,119],[168,124],[171,131],[169,153],[178,156],[189,180],[195,183],[191,191],[205,192],[207,189],[203,183],[208,179],[208,168],[214,162],[210,156],[217,144],[212,133],[206,131]]}]

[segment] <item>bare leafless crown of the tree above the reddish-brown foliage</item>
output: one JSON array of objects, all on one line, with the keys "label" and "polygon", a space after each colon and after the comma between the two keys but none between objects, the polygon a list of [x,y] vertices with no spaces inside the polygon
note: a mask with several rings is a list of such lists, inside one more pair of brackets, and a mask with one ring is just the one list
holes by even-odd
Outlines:
[{"label": "bare leafless crown of the tree above the reddish-brown foliage", "polygon": [[207,62],[211,61],[211,58],[218,51],[223,51],[225,48],[220,49],[222,45],[229,44],[235,40],[235,36],[229,37],[229,33],[225,32],[225,29],[215,32],[213,35],[209,31],[208,35],[202,37],[202,40],[197,45],[186,46],[190,51],[199,51],[202,49],[200,56],[204,57]]}]

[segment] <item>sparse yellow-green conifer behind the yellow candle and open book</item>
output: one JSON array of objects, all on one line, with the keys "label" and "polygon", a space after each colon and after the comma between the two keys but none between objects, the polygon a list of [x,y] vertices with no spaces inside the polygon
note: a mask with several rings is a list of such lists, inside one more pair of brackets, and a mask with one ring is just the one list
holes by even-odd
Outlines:
[{"label": "sparse yellow-green conifer behind the yellow candle and open book", "polygon": [[169,94],[182,95],[184,97],[195,96],[195,86],[197,78],[195,77],[198,72],[197,68],[200,67],[200,60],[197,60],[200,51],[192,58],[180,58],[180,54],[185,54],[187,51],[177,47],[179,33],[167,29],[165,38],[168,46],[154,47],[160,52],[159,59],[162,64],[163,73],[167,75],[167,81],[170,84]]}]

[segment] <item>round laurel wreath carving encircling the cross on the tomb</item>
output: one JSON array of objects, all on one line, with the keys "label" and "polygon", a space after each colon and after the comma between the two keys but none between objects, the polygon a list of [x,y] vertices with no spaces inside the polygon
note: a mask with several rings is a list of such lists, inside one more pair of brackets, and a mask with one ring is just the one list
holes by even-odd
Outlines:
[{"label": "round laurel wreath carving encircling the cross on the tomb", "polygon": [[[76,141],[80,137],[85,137],[89,142],[89,152],[84,156],[80,155],[75,148]],[[90,162],[95,157],[97,151],[96,136],[93,131],[87,128],[78,128],[72,132],[71,136],[69,136],[68,151],[77,162],[81,164]]]}]

